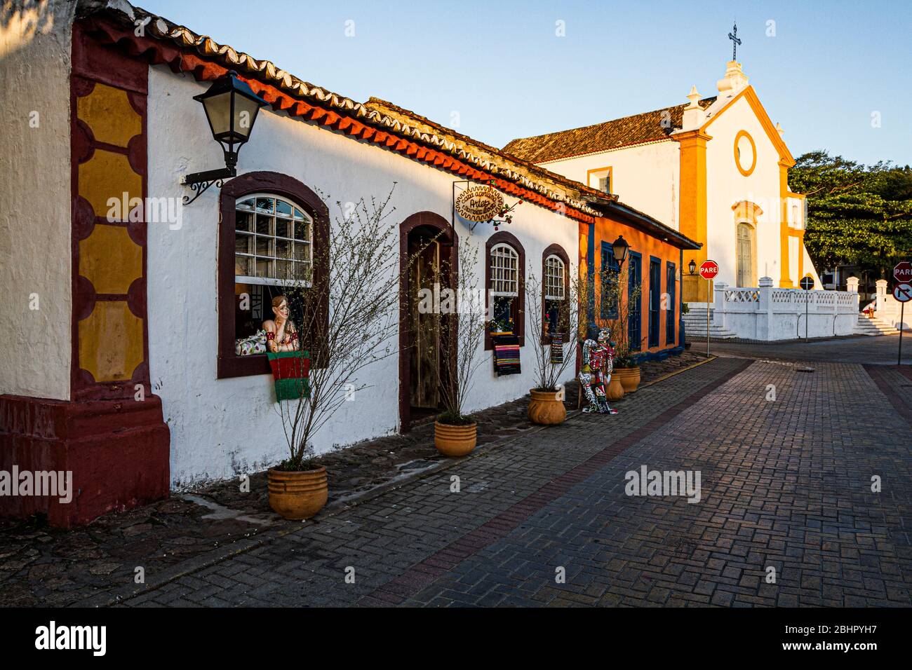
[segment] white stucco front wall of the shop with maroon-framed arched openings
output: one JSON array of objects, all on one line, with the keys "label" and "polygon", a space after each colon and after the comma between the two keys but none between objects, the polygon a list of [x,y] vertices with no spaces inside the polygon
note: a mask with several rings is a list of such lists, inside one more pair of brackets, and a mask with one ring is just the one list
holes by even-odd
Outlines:
[{"label": "white stucco front wall of the shop with maroon-framed arched openings", "polygon": [[[180,198],[190,192],[179,183],[182,174],[223,165],[202,106],[192,100],[206,86],[153,67],[149,87],[149,195]],[[451,183],[457,180],[389,150],[271,111],[260,113],[252,139],[240,153],[238,173],[253,170],[282,172],[323,191],[331,213],[335,201],[385,196],[397,181],[392,204],[398,221],[417,211],[433,211],[449,221]],[[175,488],[263,469],[284,459],[287,451],[272,377],[216,379],[217,225],[218,190],[213,187],[183,209],[180,230],[167,224],[149,227],[150,375],[171,428]],[[552,243],[561,244],[571,260],[577,258],[576,222],[544,208],[524,202],[506,230],[523,242],[526,261],[536,273],[541,272],[544,248]],[[461,239],[469,236],[460,224],[457,232]],[[470,239],[483,251],[492,232],[479,225]],[[483,273],[483,265],[479,269]],[[531,306],[527,298],[527,313]],[[526,332],[531,332],[528,324]],[[483,356],[487,359],[490,352]],[[490,361],[482,365],[466,409],[527,393],[533,386],[530,345],[522,356],[522,375],[496,377]],[[373,387],[343,404],[317,434],[316,451],[397,431],[398,379],[396,356],[365,368],[359,383]]]}]

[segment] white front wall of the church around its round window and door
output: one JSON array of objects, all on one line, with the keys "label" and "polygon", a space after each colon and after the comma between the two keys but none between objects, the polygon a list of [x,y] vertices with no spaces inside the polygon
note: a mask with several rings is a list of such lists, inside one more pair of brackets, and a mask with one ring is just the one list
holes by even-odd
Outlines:
[{"label": "white front wall of the church around its round window and door", "polygon": [[[735,165],[734,142],[740,130],[753,138],[757,164],[745,177]],[[737,283],[737,226],[731,206],[739,201],[760,205],[763,213],[756,232],[757,277],[772,277],[779,285],[781,273],[779,153],[745,98],[716,117],[706,130],[707,254],[719,263],[719,279]]]}]

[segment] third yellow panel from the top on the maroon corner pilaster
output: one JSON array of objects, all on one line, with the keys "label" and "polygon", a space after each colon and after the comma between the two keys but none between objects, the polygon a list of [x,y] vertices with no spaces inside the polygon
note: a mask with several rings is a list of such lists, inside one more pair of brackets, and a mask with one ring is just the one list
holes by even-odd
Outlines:
[{"label": "third yellow panel from the top on the maroon corner pilaster", "polygon": [[98,224],[79,242],[79,274],[99,294],[126,294],[142,275],[142,248],[124,226]]}]

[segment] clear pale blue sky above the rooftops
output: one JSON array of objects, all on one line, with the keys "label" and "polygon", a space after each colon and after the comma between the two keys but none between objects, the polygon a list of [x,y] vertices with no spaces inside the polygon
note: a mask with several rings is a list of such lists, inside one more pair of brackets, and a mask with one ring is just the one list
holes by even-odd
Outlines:
[{"label": "clear pale blue sky above the rooftops", "polygon": [[737,18],[738,59],[795,156],[912,163],[908,0],[134,2],[349,98],[449,127],[458,113],[498,147],[687,102],[692,84],[715,94]]}]

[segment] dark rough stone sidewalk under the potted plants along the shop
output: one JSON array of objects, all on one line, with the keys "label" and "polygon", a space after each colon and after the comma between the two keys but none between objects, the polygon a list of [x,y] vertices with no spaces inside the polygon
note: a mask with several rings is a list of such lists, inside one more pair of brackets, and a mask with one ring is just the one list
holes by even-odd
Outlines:
[{"label": "dark rough stone sidewalk under the potted plants along the shop", "polygon": [[[643,368],[646,383],[703,361],[685,353]],[[567,406],[576,407],[575,387]],[[618,407],[625,407],[623,400]],[[473,415],[479,444],[492,448],[541,429],[526,417],[528,398]],[[433,446],[433,426],[407,435],[359,443],[320,457],[329,472],[329,508],[396,485],[422,472],[447,467]],[[250,491],[238,481],[216,483],[135,510],[107,514],[86,527],[63,531],[35,521],[0,520],[0,605],[68,604],[132,583],[142,566],[147,583],[171,579],[269,541],[300,524],[284,521],[269,508],[265,473],[250,477]],[[208,506],[208,507],[207,507]]]}]

